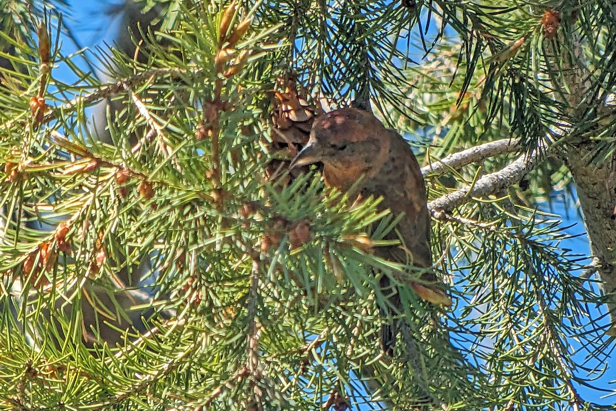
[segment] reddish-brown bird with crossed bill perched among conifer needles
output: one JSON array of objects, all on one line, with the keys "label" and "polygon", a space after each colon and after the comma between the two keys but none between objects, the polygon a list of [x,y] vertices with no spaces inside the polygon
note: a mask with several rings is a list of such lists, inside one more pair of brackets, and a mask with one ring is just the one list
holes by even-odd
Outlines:
[{"label": "reddish-brown bird with crossed bill perched among conifer needles", "polygon": [[[430,217],[424,179],[415,155],[400,134],[385,128],[370,112],[357,108],[335,110],[317,118],[309,141],[291,161],[290,168],[318,161],[324,165],[323,177],[329,187],[347,191],[363,176],[354,194],[383,197],[380,210],[389,209],[396,216],[404,213],[396,229],[386,236],[399,239],[401,244],[376,247],[375,253],[389,261],[423,268],[421,278],[410,283],[413,290],[427,301],[450,305],[451,300],[439,290],[440,282],[430,270]],[[381,345],[391,354],[400,331],[391,310],[399,313],[403,308],[389,277],[383,275],[380,287],[391,306],[381,308],[387,318],[381,328]]]}]

